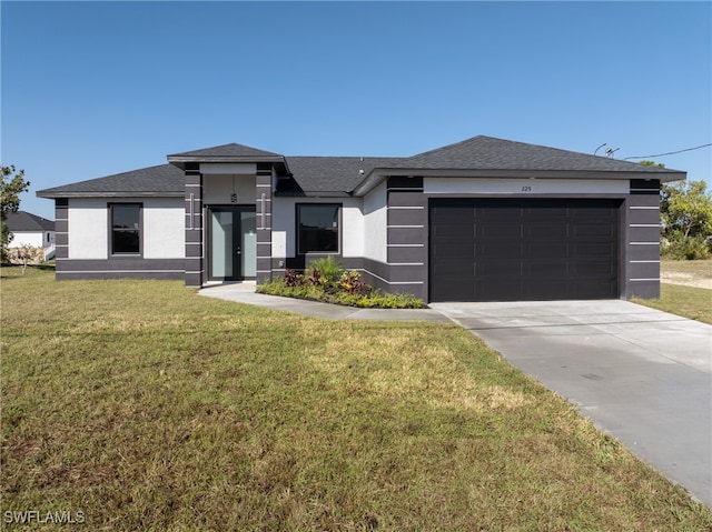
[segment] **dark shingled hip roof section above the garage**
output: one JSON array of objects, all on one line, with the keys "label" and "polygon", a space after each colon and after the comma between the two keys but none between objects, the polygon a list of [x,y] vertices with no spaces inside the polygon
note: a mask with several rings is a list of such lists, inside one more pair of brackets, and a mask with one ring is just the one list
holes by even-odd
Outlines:
[{"label": "dark shingled hip roof section above the garage", "polygon": [[664,173],[668,169],[493,137],[473,137],[402,159],[398,167],[458,170],[585,170]]}]

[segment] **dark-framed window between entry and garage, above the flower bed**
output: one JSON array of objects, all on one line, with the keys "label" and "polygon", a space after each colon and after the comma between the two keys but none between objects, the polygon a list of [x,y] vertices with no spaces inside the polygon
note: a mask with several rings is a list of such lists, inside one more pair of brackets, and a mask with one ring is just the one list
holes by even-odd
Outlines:
[{"label": "dark-framed window between entry and garage, above the flower bed", "polygon": [[340,208],[334,203],[297,205],[299,253],[338,253]]}]

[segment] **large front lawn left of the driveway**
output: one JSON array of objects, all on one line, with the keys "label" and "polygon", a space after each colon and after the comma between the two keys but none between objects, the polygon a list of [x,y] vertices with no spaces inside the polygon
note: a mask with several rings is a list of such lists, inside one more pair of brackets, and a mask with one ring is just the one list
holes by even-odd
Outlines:
[{"label": "large front lawn left of the driveway", "polygon": [[3,515],[81,511],[78,530],[122,531],[712,529],[709,509],[455,325],[1,274]]}]

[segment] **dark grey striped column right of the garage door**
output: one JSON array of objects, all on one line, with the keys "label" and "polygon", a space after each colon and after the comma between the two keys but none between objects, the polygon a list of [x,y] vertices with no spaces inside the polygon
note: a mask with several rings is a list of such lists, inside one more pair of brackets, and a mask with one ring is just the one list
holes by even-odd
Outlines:
[{"label": "dark grey striped column right of the garage door", "polygon": [[631,180],[625,202],[625,285],[630,298],[660,298],[660,181]]}]

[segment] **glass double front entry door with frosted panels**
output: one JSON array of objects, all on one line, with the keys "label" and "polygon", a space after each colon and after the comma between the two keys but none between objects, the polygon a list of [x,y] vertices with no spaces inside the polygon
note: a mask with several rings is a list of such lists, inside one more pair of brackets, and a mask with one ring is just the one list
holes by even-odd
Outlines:
[{"label": "glass double front entry door with frosted panels", "polygon": [[209,213],[209,280],[255,279],[257,270],[255,207],[211,207]]}]

